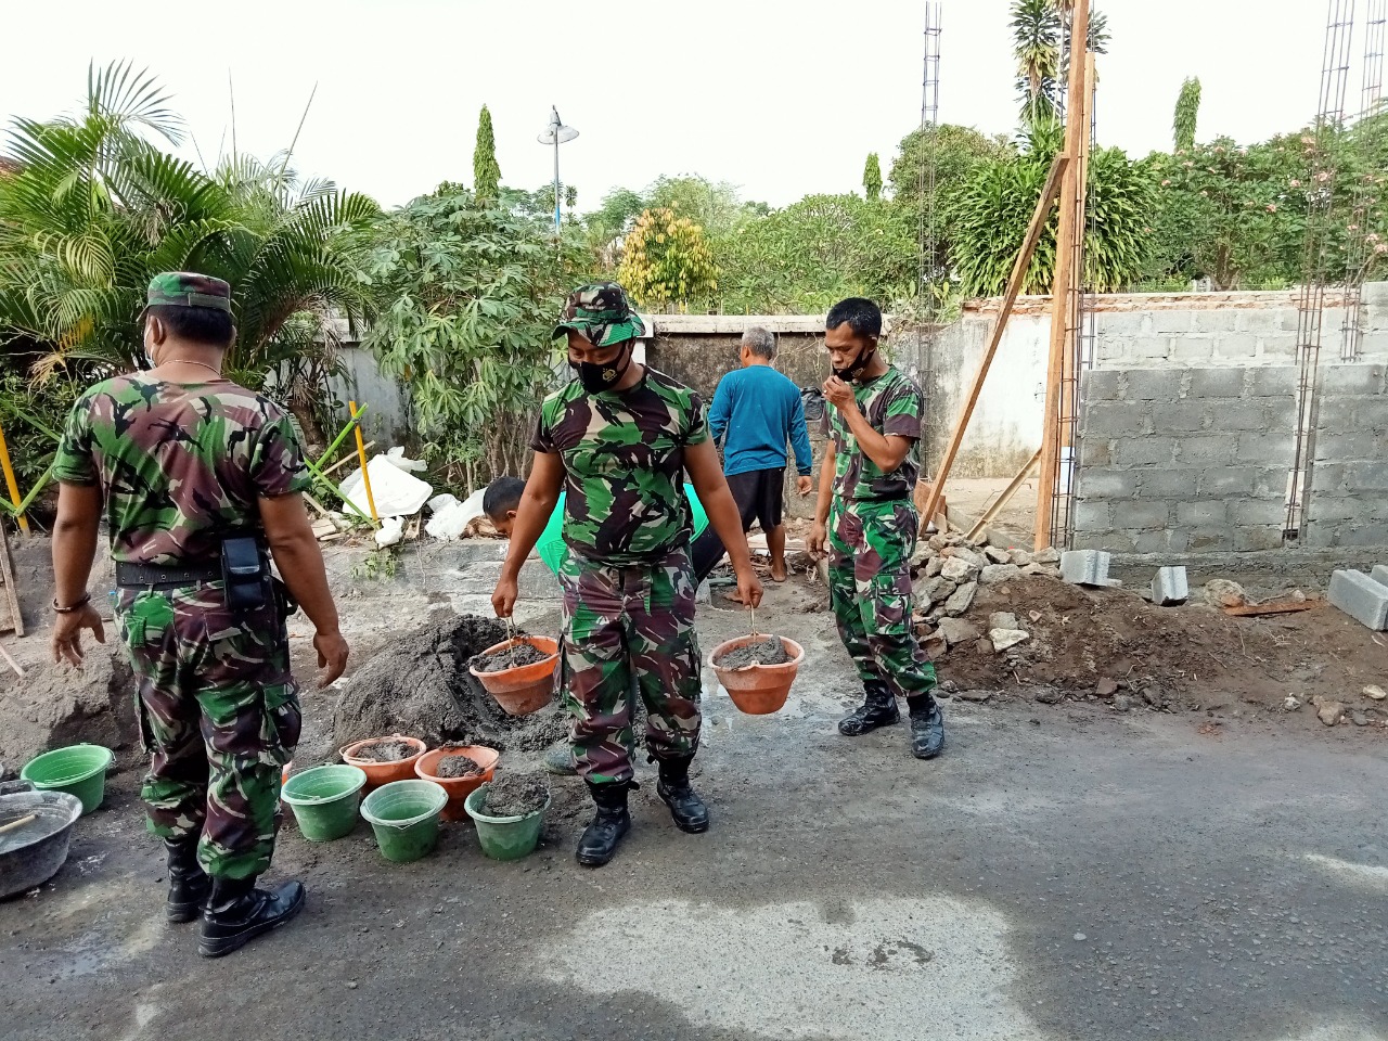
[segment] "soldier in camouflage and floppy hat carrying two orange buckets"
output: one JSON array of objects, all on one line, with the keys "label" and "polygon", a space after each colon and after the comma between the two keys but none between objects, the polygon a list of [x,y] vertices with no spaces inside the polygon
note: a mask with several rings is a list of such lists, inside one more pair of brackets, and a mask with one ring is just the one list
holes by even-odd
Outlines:
[{"label": "soldier in camouflage and floppy hat carrying two orange buckets", "polygon": [[700,651],[688,543],[688,471],[748,604],[761,602],[737,504],[727,490],[698,394],[632,357],[641,318],[612,282],[582,286],[564,308],[577,379],[544,400],[534,462],[493,594],[502,618],[520,565],[565,491],[559,569],[564,634],[559,683],[573,716],[573,759],[597,804],[579,840],[579,863],[612,859],[630,827],[633,676],[647,708],[645,747],[659,766],[657,794],[676,826],[708,829],[690,786],[700,738]]}]

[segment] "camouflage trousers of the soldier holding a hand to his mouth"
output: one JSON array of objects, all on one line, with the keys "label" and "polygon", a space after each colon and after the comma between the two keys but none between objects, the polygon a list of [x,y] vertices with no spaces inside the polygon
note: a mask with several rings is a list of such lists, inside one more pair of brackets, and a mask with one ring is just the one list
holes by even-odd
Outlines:
[{"label": "camouflage trousers of the soldier holding a hand to his mouth", "polygon": [[836,500],[829,519],[829,605],[869,698],[936,687],[936,666],[911,625],[916,527],[905,500]]}]

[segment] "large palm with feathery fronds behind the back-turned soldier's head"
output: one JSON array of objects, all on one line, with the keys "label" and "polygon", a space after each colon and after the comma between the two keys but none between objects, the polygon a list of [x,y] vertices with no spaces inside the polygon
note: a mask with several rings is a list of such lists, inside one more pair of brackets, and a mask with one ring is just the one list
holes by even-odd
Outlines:
[{"label": "large palm with feathery fronds behind the back-turned soldier's head", "polygon": [[[196,269],[232,286],[229,375],[261,389],[275,373],[285,389],[304,328],[333,310],[364,314],[357,258],[379,208],[330,182],[300,183],[289,155],[196,171],[157,144],[182,139],[167,100],[147,74],[112,64],[89,71],[76,117],[14,121],[18,171],[0,179],[0,343],[36,353],[40,379],[135,368],[150,278]],[[310,432],[312,412],[296,415]]]}]

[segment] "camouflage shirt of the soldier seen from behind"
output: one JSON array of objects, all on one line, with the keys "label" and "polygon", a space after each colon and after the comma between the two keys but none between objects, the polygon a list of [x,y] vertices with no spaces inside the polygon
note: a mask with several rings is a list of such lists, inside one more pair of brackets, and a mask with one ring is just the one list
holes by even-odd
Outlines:
[{"label": "camouflage shirt of the soldier seen from behind", "polygon": [[310,486],[289,418],[229,380],[143,373],[87,390],[68,416],[53,475],[100,483],[111,557],[215,564],[225,536],[258,530],[260,497]]}]

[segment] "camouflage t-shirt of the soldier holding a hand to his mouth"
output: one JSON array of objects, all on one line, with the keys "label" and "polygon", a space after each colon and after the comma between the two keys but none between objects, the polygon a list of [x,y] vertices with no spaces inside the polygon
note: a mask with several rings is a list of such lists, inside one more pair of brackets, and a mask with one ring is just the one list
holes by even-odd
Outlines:
[{"label": "camouflage t-shirt of the soldier holding a hand to his mouth", "polygon": [[834,494],[840,498],[911,498],[920,476],[920,414],[924,398],[909,376],[888,365],[869,383],[854,383],[854,398],[873,430],[909,437],[911,448],[891,473],[867,458],[848,429],[843,412],[831,408],[830,434],[834,439]]}]

